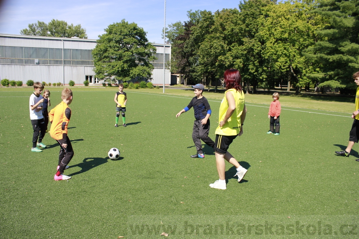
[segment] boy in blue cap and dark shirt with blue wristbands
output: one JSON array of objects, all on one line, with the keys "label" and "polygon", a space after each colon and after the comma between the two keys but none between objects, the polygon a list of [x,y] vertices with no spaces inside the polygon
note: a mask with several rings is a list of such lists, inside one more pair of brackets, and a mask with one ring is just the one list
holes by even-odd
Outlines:
[{"label": "boy in blue cap and dark shirt with blue wristbands", "polygon": [[202,143],[205,142],[208,146],[214,147],[213,140],[208,137],[209,133],[209,117],[211,116],[211,107],[209,106],[208,100],[202,95],[204,86],[202,84],[192,85],[195,88],[195,97],[191,102],[176,114],[176,118],[182,113],[189,111],[192,107],[195,111],[195,122],[193,125],[192,139],[195,143],[197,154],[191,155],[191,158],[204,158],[202,151]]}]

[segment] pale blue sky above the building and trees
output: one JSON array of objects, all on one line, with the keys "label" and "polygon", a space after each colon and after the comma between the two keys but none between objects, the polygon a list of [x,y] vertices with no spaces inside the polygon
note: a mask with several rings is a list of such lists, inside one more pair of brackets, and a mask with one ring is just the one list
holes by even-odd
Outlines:
[{"label": "pale blue sky above the building and trees", "polygon": [[[187,20],[187,11],[216,11],[238,8],[239,0],[167,0],[166,25]],[[37,20],[65,20],[86,28],[89,39],[98,39],[109,24],[126,19],[135,22],[147,32],[150,42],[163,43],[164,0],[4,0],[0,9],[0,33],[20,34],[29,23]]]}]

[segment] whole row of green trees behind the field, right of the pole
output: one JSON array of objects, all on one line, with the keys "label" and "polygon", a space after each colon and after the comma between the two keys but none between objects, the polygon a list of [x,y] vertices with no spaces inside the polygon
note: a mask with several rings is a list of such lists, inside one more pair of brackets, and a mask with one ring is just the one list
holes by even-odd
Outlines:
[{"label": "whole row of green trees behind the field, right of the pole", "polygon": [[245,0],[238,9],[188,11],[168,25],[171,71],[187,84],[216,84],[229,68],[243,82],[274,89],[290,85],[354,88],[359,70],[359,0]]}]

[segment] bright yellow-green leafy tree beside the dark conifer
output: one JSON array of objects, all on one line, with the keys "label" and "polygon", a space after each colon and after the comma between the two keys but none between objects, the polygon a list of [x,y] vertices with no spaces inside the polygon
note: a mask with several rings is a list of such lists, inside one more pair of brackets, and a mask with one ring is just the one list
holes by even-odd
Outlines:
[{"label": "bright yellow-green leafy tree beside the dark conifer", "polygon": [[280,80],[278,76],[287,75],[288,90],[294,84],[297,94],[311,82],[306,75],[313,72],[313,67],[302,51],[314,45],[315,30],[318,24],[320,26],[317,14],[310,13],[315,6],[311,1],[292,0],[267,7],[269,10],[258,34],[265,42],[263,55],[269,89]]}]

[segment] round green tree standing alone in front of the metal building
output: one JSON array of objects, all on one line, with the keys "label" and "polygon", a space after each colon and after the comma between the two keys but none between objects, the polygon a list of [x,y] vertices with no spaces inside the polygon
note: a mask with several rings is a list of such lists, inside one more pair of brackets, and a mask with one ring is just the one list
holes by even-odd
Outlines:
[{"label": "round green tree standing alone in front of the metal building", "polygon": [[92,51],[95,77],[108,82],[150,79],[154,69],[150,61],[156,59],[156,48],[148,42],[144,29],[123,19],[105,32]]}]

